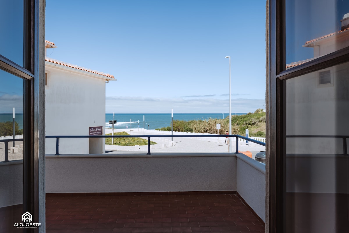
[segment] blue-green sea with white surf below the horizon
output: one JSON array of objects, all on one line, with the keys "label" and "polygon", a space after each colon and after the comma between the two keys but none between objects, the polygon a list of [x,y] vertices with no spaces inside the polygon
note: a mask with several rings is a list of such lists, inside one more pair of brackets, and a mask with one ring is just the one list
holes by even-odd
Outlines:
[{"label": "blue-green sea with white surf below the horizon", "polygon": [[[236,113],[236,115],[244,115],[246,113]],[[232,115],[235,115],[235,113]],[[144,124],[143,124],[144,116]],[[173,120],[191,121],[205,120],[209,118],[223,119],[228,117],[228,113],[173,113]],[[141,128],[154,130],[162,127],[171,126],[171,113],[154,113],[154,114],[137,114],[137,113],[122,113],[115,114],[114,119],[117,124],[114,124],[115,129],[132,129]],[[109,121],[113,120],[113,114],[105,114],[105,124],[109,125]],[[111,125],[110,125],[111,127]]]}]

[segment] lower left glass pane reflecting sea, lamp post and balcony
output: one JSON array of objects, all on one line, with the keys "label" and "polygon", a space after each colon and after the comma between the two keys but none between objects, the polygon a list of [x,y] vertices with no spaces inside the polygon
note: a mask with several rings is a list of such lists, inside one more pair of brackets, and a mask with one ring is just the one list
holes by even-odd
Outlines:
[{"label": "lower left glass pane reflecting sea, lamp post and balcony", "polygon": [[[23,79],[0,70],[1,232],[23,230],[14,227],[15,223],[23,223],[23,82]],[[13,135],[17,141],[8,141],[14,138]]]}]

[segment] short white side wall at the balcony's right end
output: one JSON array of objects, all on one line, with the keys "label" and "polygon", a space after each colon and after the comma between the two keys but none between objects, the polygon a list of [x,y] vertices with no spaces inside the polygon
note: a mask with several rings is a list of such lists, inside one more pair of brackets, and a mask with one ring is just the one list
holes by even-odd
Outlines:
[{"label": "short white side wall at the balcony's right end", "polygon": [[265,165],[237,154],[236,191],[265,222]]}]

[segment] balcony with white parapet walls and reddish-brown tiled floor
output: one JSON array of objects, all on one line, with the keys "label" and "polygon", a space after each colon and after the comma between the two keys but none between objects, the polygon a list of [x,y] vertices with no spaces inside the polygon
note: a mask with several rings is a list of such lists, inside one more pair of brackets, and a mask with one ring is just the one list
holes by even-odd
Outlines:
[{"label": "balcony with white parapet walls and reddish-brown tiled floor", "polygon": [[[20,161],[2,166],[19,177]],[[241,153],[47,154],[45,163],[46,232],[264,232],[265,165]]]}]

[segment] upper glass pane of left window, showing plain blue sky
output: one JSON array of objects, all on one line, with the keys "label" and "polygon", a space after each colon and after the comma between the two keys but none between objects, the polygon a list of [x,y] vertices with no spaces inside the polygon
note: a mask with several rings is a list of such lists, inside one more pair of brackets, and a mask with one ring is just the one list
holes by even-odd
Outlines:
[{"label": "upper glass pane of left window, showing plain blue sky", "polygon": [[0,55],[24,66],[24,1],[0,1]]}]

